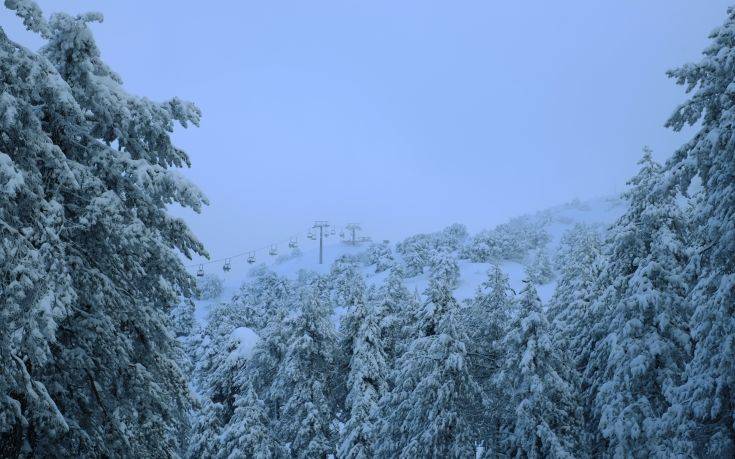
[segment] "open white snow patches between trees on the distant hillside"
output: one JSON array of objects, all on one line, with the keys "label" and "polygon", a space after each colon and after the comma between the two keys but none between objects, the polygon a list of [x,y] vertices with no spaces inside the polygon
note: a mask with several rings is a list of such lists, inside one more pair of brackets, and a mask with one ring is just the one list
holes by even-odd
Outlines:
[{"label": "open white snow patches between trees on the distant hillside", "polygon": [[[625,203],[618,198],[598,198],[589,201],[573,201],[568,204],[556,206],[531,215],[531,219],[542,222],[545,230],[550,236],[549,245],[547,246],[549,254],[554,254],[559,246],[562,235],[577,223],[599,226],[604,230],[613,223],[625,210]],[[408,235],[407,235],[408,236]],[[397,241],[395,241],[397,242]],[[319,244],[318,241],[307,240],[302,244],[300,253],[290,259],[280,260],[278,258],[267,260],[266,266],[272,271],[289,277],[295,278],[300,270],[316,271],[320,274],[329,272],[332,263],[342,255],[358,255],[364,252],[368,244],[362,246],[345,245],[336,238],[325,240],[324,246],[324,263],[319,264]],[[395,248],[393,246],[393,248]],[[285,257],[284,257],[285,258]],[[261,263],[262,264],[262,263]],[[237,292],[243,282],[250,277],[250,273],[254,267],[259,264],[249,265],[244,260],[232,264],[232,270],[224,273],[218,265],[208,265],[209,272],[217,273],[224,280],[224,291],[216,300],[196,301],[196,318],[203,323],[213,304],[219,301],[229,301]],[[489,263],[473,263],[468,260],[459,260],[460,267],[460,284],[455,291],[458,300],[471,297],[477,286],[485,279],[486,273],[490,268]],[[505,261],[501,263],[501,267],[510,278],[511,287],[516,291],[520,291],[522,280],[524,277],[525,267],[523,264],[515,261]],[[387,272],[375,273],[375,266],[364,266],[363,274],[368,285],[379,285],[387,277]],[[405,280],[408,289],[423,292],[428,284],[428,273],[418,275]],[[545,285],[538,286],[541,300],[547,302],[554,292],[556,284],[551,281]]]}]

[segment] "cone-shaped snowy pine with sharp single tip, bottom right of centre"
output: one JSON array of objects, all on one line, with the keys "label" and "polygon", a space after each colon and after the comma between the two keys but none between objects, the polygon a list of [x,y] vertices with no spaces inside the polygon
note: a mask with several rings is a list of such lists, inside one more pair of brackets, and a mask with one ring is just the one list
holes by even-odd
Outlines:
[{"label": "cone-shaped snowy pine with sharp single tip, bottom right of centre", "polygon": [[569,370],[549,336],[549,324],[530,279],[517,317],[503,339],[506,358],[497,383],[514,409],[508,438],[496,446],[516,457],[574,457],[581,425]]}]

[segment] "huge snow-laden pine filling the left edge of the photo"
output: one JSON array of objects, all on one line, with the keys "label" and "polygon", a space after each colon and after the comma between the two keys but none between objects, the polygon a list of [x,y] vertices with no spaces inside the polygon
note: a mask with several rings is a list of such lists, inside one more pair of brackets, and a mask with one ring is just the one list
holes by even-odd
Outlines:
[{"label": "huge snow-laden pine filling the left edge of the photo", "polygon": [[197,124],[179,99],[122,88],[87,26],[8,1],[47,44],[0,32],[0,448],[10,456],[168,456],[186,419],[168,309],[193,280],[174,249],[204,254],[167,206],[202,194],[172,167]]}]

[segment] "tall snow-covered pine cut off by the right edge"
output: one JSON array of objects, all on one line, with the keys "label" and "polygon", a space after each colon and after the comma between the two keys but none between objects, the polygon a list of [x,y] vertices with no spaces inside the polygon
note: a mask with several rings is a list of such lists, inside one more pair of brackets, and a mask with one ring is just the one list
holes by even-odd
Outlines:
[{"label": "tall snow-covered pine cut off by the right edge", "polygon": [[677,405],[670,413],[679,426],[675,446],[683,454],[735,456],[735,8],[710,34],[711,44],[696,64],[671,70],[691,97],[667,126],[679,131],[701,123],[699,131],[666,163],[668,183],[687,191],[701,181],[694,207],[697,249],[688,274],[695,283],[691,333],[694,356],[686,369]]}]

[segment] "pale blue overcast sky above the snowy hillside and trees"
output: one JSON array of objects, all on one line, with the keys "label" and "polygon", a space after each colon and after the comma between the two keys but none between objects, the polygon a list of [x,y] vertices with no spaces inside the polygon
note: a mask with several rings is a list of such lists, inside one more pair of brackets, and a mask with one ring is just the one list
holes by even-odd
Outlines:
[{"label": "pale blue overcast sky above the snowy hillside and trees", "polygon": [[[41,1],[101,11],[105,61],[132,93],[196,102],[175,134],[211,205],[177,212],[213,257],[359,221],[376,239],[476,231],[623,190],[641,147],[664,160],[720,0]],[[3,10],[0,24],[40,41]]]}]

